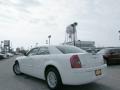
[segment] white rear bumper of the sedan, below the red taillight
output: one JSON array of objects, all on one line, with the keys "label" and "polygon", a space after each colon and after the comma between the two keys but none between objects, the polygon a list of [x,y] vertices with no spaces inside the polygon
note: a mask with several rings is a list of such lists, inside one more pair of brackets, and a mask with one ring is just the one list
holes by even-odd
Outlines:
[{"label": "white rear bumper of the sedan, below the red taillight", "polygon": [[[81,85],[93,82],[102,78],[105,75],[107,65],[101,65],[93,68],[81,68],[66,71],[66,74],[62,75],[62,82],[66,85]],[[102,74],[96,76],[95,70],[101,69]]]}]

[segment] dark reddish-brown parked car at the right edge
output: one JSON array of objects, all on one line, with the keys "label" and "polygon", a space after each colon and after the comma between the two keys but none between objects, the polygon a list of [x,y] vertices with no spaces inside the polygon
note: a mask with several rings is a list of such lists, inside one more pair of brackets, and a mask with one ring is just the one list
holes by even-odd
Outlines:
[{"label": "dark reddish-brown parked car at the right edge", "polygon": [[105,48],[98,52],[102,54],[108,65],[120,64],[120,48]]}]

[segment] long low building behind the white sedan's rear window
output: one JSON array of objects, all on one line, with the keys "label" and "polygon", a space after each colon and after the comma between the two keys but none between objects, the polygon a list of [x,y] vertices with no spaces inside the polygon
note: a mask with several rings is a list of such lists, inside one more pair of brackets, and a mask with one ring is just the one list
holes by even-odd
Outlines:
[{"label": "long low building behind the white sedan's rear window", "polygon": [[[63,43],[63,45],[74,45],[73,42],[66,42]],[[76,47],[80,47],[84,50],[93,50],[95,48],[95,41],[76,41],[75,42]]]}]

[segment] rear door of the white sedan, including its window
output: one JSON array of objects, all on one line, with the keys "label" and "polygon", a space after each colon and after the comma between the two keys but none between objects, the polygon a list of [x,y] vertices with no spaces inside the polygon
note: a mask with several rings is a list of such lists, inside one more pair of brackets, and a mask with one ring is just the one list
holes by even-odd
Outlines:
[{"label": "rear door of the white sedan, including its window", "polygon": [[37,53],[36,60],[33,63],[34,65],[34,76],[38,78],[44,77],[44,63],[49,59],[50,52],[48,47],[40,47]]}]

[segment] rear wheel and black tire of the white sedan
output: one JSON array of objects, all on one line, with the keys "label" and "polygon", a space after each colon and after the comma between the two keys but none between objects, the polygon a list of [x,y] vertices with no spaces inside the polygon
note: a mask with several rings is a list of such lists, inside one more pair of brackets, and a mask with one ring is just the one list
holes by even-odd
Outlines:
[{"label": "rear wheel and black tire of the white sedan", "polygon": [[50,90],[59,90],[62,88],[60,74],[55,68],[49,68],[46,71],[46,82]]}]

